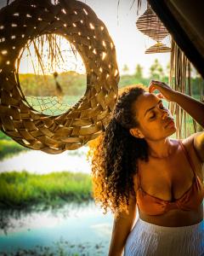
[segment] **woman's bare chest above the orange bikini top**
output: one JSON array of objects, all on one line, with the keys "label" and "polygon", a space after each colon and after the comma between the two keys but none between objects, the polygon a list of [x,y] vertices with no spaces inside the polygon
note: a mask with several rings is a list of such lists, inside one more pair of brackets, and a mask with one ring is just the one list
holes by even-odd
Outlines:
[{"label": "woman's bare chest above the orange bikini top", "polygon": [[139,160],[140,187],[150,195],[172,201],[190,189],[194,172],[201,178],[200,169],[195,160],[191,159],[190,164],[182,151],[168,159],[150,158],[149,162]]}]

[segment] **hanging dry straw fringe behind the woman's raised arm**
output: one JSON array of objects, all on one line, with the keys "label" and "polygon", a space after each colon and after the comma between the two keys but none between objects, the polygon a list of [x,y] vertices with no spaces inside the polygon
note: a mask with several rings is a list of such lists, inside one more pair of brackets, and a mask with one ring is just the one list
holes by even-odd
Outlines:
[{"label": "hanging dry straw fringe behind the woman's raised arm", "polygon": [[[170,65],[170,76],[169,84],[173,90],[182,92],[189,96],[192,96],[192,84],[191,84],[191,64],[184,52],[179,49],[178,45],[172,40],[172,53],[171,53],[171,65]],[[195,78],[194,78],[195,79]],[[196,78],[197,84],[195,86],[199,87],[200,100],[203,101],[203,79]],[[170,111],[173,113],[176,119],[177,125],[177,138],[188,137],[190,134],[196,131],[201,131],[201,126],[198,125],[194,119],[190,117],[188,113],[180,108],[177,103],[169,102]],[[190,124],[193,124],[190,125]]]}]

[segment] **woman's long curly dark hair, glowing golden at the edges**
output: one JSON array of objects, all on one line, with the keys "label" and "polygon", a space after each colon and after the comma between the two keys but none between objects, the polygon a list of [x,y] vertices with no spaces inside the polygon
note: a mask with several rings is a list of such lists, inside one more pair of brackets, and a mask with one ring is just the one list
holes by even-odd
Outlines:
[{"label": "woman's long curly dark hair, glowing golden at the edges", "polygon": [[95,202],[111,212],[128,212],[129,196],[135,195],[133,175],[138,159],[148,161],[144,138],[133,137],[129,129],[139,126],[133,103],[147,91],[142,84],[123,90],[117,97],[111,121],[92,150],[92,182]]}]

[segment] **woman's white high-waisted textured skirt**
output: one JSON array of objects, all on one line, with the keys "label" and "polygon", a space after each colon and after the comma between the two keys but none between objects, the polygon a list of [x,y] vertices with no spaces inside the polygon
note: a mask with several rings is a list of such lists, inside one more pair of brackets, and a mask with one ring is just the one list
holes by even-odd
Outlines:
[{"label": "woman's white high-waisted textured skirt", "polygon": [[123,255],[204,255],[204,220],[190,226],[163,227],[138,218],[127,237]]}]

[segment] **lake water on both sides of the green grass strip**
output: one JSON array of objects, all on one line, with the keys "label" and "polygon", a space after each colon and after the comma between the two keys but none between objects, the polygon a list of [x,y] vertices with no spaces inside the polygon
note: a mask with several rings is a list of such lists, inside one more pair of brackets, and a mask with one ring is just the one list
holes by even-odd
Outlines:
[{"label": "lake water on both sides of the green grass strip", "polygon": [[[85,172],[91,167],[88,147],[61,154],[28,150],[0,161],[0,172]],[[68,204],[56,210],[0,212],[0,255],[107,254],[112,228],[111,213],[103,214],[94,202]],[[2,254],[7,253],[7,254]],[[50,252],[50,254],[49,254]],[[54,252],[54,254],[52,254]],[[64,254],[63,254],[63,253]],[[78,253],[78,254],[76,254]],[[17,254],[16,254],[17,255]]]}]

